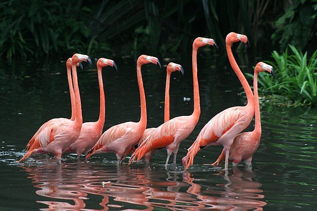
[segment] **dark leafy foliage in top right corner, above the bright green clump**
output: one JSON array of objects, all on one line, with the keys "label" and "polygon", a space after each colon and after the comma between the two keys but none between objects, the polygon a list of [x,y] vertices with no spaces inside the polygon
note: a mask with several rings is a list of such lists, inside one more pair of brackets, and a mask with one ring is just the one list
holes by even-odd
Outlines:
[{"label": "dark leafy foliage in top right corner, above the bright green clump", "polygon": [[[288,44],[304,49],[316,38],[317,0],[293,0],[285,8],[285,13],[275,21],[276,31],[271,38],[281,50]],[[315,26],[315,27],[314,27]]]}]

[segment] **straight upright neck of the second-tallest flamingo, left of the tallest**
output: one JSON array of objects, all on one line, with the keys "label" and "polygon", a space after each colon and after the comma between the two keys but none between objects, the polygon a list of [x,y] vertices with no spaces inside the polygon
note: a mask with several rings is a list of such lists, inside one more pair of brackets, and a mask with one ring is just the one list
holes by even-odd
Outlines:
[{"label": "straight upright neck of the second-tallest flamingo, left of the tallest", "polygon": [[197,120],[200,116],[200,100],[199,100],[199,87],[198,87],[198,76],[197,76],[197,47],[193,46],[193,55],[192,55],[192,65],[193,65],[193,86],[194,86],[194,115]]}]

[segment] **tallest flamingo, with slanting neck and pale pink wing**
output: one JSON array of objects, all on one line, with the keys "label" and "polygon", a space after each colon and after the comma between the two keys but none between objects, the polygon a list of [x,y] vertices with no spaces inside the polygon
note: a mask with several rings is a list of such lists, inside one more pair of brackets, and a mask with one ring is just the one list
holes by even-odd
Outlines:
[{"label": "tallest flamingo, with slanting neck and pale pink wing", "polygon": [[254,116],[254,98],[248,81],[241,72],[235,61],[231,44],[241,41],[249,45],[245,35],[231,32],[226,37],[226,50],[232,69],[238,76],[243,89],[247,95],[248,104],[246,106],[235,106],[227,108],[214,117],[203,127],[192,146],[188,149],[187,155],[182,158],[185,169],[194,162],[194,157],[198,151],[210,145],[222,145],[226,149],[225,169],[228,169],[229,150],[233,139],[245,128],[248,127]]}]

